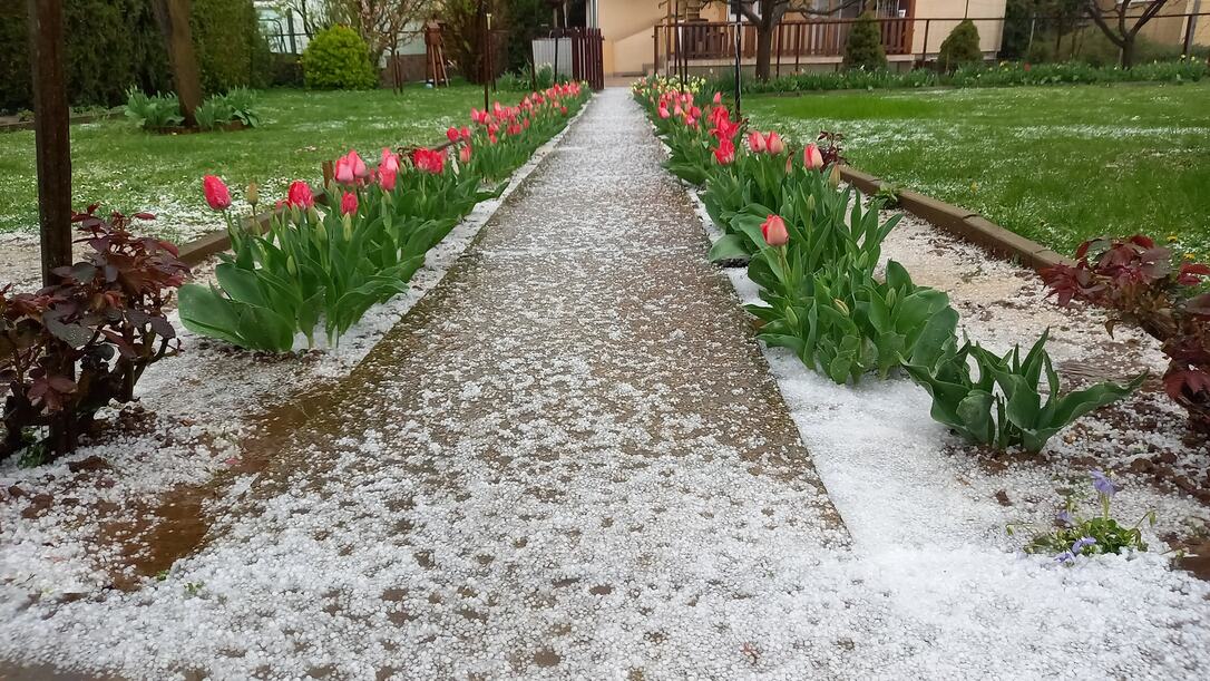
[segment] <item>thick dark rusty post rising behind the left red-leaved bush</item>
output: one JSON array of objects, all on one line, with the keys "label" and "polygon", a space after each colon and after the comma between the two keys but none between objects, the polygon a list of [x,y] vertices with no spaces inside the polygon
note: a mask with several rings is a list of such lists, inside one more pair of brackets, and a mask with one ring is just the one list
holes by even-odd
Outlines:
[{"label": "thick dark rusty post rising behind the left red-leaved bush", "polygon": [[71,264],[71,137],[63,75],[63,1],[29,0],[29,47],[38,145],[38,218],[42,283]]}]

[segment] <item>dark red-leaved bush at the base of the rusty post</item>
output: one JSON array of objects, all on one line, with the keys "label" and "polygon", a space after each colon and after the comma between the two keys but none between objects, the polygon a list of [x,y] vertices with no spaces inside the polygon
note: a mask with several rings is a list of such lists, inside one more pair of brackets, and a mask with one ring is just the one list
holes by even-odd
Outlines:
[{"label": "dark red-leaved bush at the base of the rusty post", "polygon": [[0,288],[0,458],[74,449],[99,409],[132,400],[143,371],[180,350],[165,306],[189,267],[171,243],[96,210],[73,218],[92,253],[54,270],[59,284],[34,294]]}]

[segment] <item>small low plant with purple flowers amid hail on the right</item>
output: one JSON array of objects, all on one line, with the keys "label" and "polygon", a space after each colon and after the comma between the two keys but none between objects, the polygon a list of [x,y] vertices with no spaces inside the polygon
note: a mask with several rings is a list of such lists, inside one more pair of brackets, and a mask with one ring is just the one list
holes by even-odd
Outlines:
[{"label": "small low plant with purple flowers amid hail on the right", "polygon": [[[1125,526],[1110,513],[1111,502],[1118,491],[1117,485],[1101,471],[1093,471],[1091,486],[1096,495],[1099,513],[1094,515],[1081,513],[1081,507],[1088,495],[1083,490],[1073,489],[1065,495],[1064,509],[1055,518],[1055,526],[1035,532],[1033,537],[1025,544],[1025,553],[1051,554],[1056,562],[1070,565],[1076,561],[1076,556],[1081,555],[1147,550],[1147,543],[1142,539],[1140,527],[1146,521],[1154,525],[1156,512],[1150,510],[1134,525]],[[1009,536],[1014,536],[1016,531],[1016,526],[1008,526]]]}]

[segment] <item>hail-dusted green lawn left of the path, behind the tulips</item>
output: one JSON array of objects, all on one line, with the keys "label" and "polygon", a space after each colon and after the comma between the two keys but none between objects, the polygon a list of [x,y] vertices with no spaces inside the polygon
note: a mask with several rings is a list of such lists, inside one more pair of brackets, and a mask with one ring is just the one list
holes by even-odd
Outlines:
[{"label": "hail-dusted green lawn left of the path, behind the tulips", "polygon": [[[77,125],[73,194],[77,207],[99,201],[155,213],[155,230],[182,239],[223,225],[202,198],[207,173],[226,179],[232,191],[241,187],[237,195],[255,180],[261,200],[271,202],[292,180],[318,184],[321,163],[348,149],[376,157],[387,145],[443,142],[445,128],[463,125],[476,105],[483,106],[483,90],[472,86],[414,87],[402,96],[273,90],[261,93],[261,125],[250,131],[160,135],[126,119]],[[0,232],[36,227],[34,133],[0,134]]]}]

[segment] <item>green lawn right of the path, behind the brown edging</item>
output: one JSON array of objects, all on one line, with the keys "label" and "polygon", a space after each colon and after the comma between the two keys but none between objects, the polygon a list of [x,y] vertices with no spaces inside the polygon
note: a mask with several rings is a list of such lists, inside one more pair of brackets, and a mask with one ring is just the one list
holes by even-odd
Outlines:
[{"label": "green lawn right of the path, behind the brown edging", "polygon": [[796,140],[843,132],[849,163],[1068,254],[1147,232],[1210,255],[1210,85],[753,97]]}]

